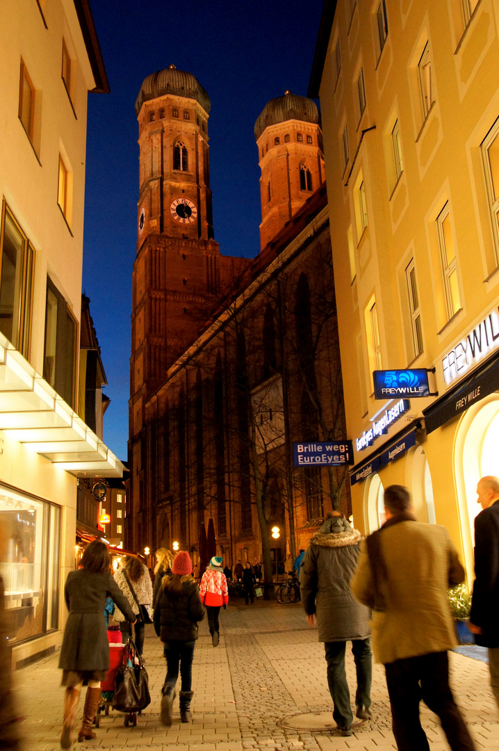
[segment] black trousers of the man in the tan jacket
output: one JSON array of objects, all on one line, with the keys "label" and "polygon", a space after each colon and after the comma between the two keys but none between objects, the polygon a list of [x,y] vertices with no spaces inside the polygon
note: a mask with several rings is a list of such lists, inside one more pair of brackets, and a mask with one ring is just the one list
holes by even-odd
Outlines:
[{"label": "black trousers of the man in the tan jacket", "polygon": [[449,686],[446,652],[409,657],[385,665],[386,686],[392,705],[392,728],[398,751],[428,751],[419,721],[419,701],[440,717],[452,751],[474,749],[473,740]]}]

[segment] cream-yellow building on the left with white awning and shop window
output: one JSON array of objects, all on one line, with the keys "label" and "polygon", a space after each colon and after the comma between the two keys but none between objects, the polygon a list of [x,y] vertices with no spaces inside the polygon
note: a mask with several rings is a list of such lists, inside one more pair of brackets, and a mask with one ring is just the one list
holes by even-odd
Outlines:
[{"label": "cream-yellow building on the left with white awning and shop window", "polygon": [[14,667],[62,641],[77,478],[122,476],[78,416],[88,0],[6,0],[0,29],[0,575]]}]

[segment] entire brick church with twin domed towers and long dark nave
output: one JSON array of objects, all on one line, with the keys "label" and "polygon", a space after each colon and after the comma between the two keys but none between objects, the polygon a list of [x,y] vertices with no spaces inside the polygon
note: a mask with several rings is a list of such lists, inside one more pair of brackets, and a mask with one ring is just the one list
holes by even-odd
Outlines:
[{"label": "entire brick church with twin domed towers and long dark nave", "polygon": [[[221,255],[209,188],[209,98],[167,68],[139,98],[128,547],[283,569],[326,511],[350,511],[345,470],[293,466],[293,442],[344,437],[322,135],[286,92],[255,125],[261,251]],[[176,543],[177,545],[174,545]]]}]

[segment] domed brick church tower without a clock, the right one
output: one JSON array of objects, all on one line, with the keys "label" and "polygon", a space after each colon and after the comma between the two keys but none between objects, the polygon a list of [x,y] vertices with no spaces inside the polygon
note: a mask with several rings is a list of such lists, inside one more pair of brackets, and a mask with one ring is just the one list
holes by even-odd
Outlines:
[{"label": "domed brick church tower without a clock, the right one", "polygon": [[267,102],[254,136],[262,170],[263,249],[326,179],[317,105],[287,91]]}]

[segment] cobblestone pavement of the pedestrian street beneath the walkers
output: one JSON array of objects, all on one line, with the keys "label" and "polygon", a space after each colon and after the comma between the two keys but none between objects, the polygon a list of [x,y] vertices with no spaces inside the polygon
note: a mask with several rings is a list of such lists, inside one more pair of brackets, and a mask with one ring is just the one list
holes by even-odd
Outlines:
[{"label": "cobblestone pavement of the pedestrian street beneath the walkers", "polygon": [[[240,601],[242,603],[242,601]],[[152,626],[146,627],[144,655],[149,672],[152,703],[125,728],[123,715],[102,716],[95,740],[86,749],[126,751],[388,751],[395,749],[390,729],[389,702],[383,669],[374,665],[373,719],[351,737],[334,731],[292,729],[284,722],[310,728],[301,722],[305,713],[331,712],[326,683],[323,645],[317,630],[309,629],[301,605],[278,606],[257,601],[231,604],[221,613],[221,640],[213,648],[206,621],[200,624],[193,665],[194,700],[191,725],[174,722],[164,728],[159,721],[160,691],[165,665],[161,644]],[[14,674],[24,719],[21,728],[25,751],[59,749],[63,689],[57,669],[59,654],[47,657]],[[499,715],[488,685],[488,666],[453,653],[451,681],[455,696],[477,749],[499,748]],[[347,673],[355,686],[355,668],[348,650]],[[83,701],[78,719],[81,720]],[[291,719],[290,718],[293,718]],[[334,726],[332,718],[331,725]],[[312,723],[313,724],[313,723]],[[422,706],[422,724],[431,751],[448,749],[437,718]],[[320,722],[317,723],[320,725]],[[84,748],[75,743],[76,748]]]}]

